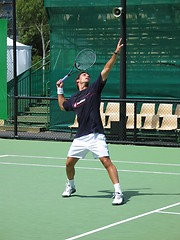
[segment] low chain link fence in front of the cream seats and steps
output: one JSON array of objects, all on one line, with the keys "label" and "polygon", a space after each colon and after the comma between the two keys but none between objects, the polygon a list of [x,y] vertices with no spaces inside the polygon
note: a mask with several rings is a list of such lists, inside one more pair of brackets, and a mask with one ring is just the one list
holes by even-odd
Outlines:
[{"label": "low chain link fence in front of the cream seats and steps", "polygon": [[[57,98],[18,97],[17,102],[17,135],[12,114],[0,125],[0,137],[73,140],[78,128],[74,112],[59,109],[58,124],[50,124],[50,111],[59,108]],[[100,113],[109,143],[180,146],[180,101],[103,99]]]}]

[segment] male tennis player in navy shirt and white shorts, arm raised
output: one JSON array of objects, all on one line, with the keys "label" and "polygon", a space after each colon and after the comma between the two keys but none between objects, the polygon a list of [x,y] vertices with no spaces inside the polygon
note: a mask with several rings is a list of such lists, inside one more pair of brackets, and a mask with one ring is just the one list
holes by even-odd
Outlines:
[{"label": "male tennis player in navy shirt and white shorts, arm raised", "polygon": [[118,54],[120,54],[123,46],[121,41],[122,39],[119,40],[115,52],[95,82],[89,85],[89,74],[86,72],[78,74],[76,86],[79,92],[73,94],[69,100],[66,100],[64,97],[62,80],[60,79],[57,82],[58,103],[61,110],[75,111],[79,124],[77,134],[68,152],[66,162],[68,182],[62,194],[63,197],[70,197],[71,194],[76,192],[74,183],[75,164],[79,159],[84,158],[88,151],[91,151],[94,157],[98,157],[107,169],[109,177],[114,184],[115,193],[112,204],[120,205],[124,201],[116,167],[109,157],[99,111],[101,92],[106,84],[108,74],[116,62]]}]

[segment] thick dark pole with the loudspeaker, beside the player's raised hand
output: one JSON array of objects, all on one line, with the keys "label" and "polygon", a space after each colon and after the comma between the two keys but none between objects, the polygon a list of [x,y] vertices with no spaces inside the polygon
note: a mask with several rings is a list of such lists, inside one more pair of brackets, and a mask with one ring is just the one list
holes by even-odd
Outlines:
[{"label": "thick dark pole with the loudspeaker, beside the player's raised hand", "polygon": [[[126,99],[126,0],[121,0],[121,37],[123,47],[120,55],[120,99]],[[126,102],[121,102],[120,107],[120,133],[119,139],[126,140]]]}]

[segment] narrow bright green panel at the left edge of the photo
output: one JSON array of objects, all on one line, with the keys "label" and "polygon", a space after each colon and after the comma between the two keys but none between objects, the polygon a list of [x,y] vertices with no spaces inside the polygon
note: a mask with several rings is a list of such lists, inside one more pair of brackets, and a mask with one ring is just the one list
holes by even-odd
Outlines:
[{"label": "narrow bright green panel at the left edge of the photo", "polygon": [[7,119],[7,20],[0,19],[0,119]]}]

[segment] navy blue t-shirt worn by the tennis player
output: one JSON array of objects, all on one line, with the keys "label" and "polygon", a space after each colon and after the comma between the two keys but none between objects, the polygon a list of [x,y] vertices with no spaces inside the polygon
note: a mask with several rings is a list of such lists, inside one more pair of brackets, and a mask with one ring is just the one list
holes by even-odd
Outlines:
[{"label": "navy blue t-shirt worn by the tennis player", "polygon": [[104,133],[99,108],[105,83],[100,74],[87,89],[73,94],[63,103],[66,111],[75,111],[77,114],[79,128],[75,138],[90,133]]}]

